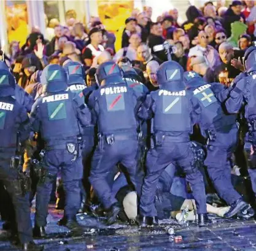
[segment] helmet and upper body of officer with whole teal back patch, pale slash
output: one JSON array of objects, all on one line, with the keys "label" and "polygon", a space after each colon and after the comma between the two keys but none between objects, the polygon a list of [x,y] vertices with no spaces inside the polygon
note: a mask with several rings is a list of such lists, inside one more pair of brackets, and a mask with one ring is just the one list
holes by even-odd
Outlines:
[{"label": "helmet and upper body of officer with whole teal back patch, pale slash", "polygon": [[[44,96],[37,99],[31,112],[35,131],[40,131],[47,145],[61,144],[69,137],[80,134],[79,120],[82,126],[90,123],[90,114],[86,114],[82,99],[71,91],[66,91],[66,74],[58,65],[47,66],[41,76]],[[53,84],[49,84],[53,83]],[[80,112],[76,112],[80,107]],[[81,115],[85,112],[85,116]],[[89,119],[88,119],[89,118]]]}]

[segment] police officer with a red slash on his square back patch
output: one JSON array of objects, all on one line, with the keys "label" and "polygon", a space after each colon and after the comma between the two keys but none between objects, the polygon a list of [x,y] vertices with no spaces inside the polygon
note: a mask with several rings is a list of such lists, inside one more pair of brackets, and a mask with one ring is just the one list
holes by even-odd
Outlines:
[{"label": "police officer with a red slash on his square back patch", "polygon": [[108,209],[108,224],[123,213],[107,182],[117,163],[123,164],[130,180],[141,194],[143,173],[137,167],[138,142],[136,105],[138,96],[122,79],[122,71],[113,61],[99,66],[96,79],[100,85],[89,98],[93,121],[98,126],[98,147],[91,162],[90,182],[101,203]]}]

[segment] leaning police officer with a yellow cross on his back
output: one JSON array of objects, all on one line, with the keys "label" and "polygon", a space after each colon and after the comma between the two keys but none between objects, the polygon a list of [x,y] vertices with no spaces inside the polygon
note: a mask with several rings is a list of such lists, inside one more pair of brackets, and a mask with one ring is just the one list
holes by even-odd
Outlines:
[{"label": "leaning police officer with a yellow cross on his back", "polygon": [[[208,138],[208,155],[204,164],[215,190],[230,205],[225,217],[233,217],[250,208],[231,183],[230,159],[238,144],[237,116],[225,114],[221,102],[215,96],[224,88],[221,83],[205,83],[194,71],[185,72],[184,79],[187,90],[204,107],[200,123],[201,133]],[[211,125],[204,126],[204,121],[209,121]]]}]

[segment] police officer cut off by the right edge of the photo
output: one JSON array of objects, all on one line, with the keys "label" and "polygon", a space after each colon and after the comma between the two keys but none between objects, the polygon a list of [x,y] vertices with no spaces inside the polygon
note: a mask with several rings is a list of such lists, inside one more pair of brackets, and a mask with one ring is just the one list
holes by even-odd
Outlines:
[{"label": "police officer cut off by the right edge of the photo", "polygon": [[249,131],[246,139],[252,144],[250,155],[250,169],[248,170],[252,182],[252,189],[256,196],[256,111],[255,111],[255,83],[256,83],[256,47],[250,47],[244,54],[246,72],[239,74],[233,85],[223,91],[227,96],[225,106],[230,113],[239,113],[245,108],[244,117],[247,120]]}]

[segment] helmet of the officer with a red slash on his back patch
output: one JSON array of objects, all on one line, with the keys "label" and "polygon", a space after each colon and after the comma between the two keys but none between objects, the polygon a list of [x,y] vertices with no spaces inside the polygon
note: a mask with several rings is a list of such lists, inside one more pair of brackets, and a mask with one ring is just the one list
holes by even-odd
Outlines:
[{"label": "helmet of the officer with a red slash on his back patch", "polygon": [[114,61],[107,61],[99,65],[96,69],[95,79],[98,85],[102,85],[103,80],[106,83],[123,82],[123,72]]}]

